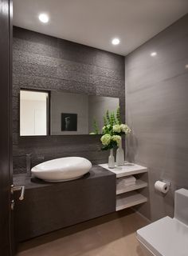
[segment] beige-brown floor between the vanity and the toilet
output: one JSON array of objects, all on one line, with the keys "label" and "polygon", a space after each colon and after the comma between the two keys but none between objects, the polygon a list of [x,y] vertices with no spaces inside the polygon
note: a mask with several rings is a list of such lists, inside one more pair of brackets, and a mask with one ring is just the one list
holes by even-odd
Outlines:
[{"label": "beige-brown floor between the vanity and the toilet", "polygon": [[18,247],[18,256],[143,256],[135,231],[147,220],[123,210],[58,230]]}]

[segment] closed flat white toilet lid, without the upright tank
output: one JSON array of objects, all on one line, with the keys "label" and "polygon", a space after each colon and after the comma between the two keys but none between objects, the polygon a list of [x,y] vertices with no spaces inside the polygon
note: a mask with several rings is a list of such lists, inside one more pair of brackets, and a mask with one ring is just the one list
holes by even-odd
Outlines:
[{"label": "closed flat white toilet lid, without the upright tank", "polygon": [[156,256],[187,256],[188,226],[165,217],[137,230],[137,238]]}]

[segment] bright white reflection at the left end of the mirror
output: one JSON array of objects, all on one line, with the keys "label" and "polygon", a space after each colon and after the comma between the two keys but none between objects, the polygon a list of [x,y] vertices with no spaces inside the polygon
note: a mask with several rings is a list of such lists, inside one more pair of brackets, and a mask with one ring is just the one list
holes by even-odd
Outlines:
[{"label": "bright white reflection at the left end of the mirror", "polygon": [[49,93],[20,90],[20,135],[48,135]]}]

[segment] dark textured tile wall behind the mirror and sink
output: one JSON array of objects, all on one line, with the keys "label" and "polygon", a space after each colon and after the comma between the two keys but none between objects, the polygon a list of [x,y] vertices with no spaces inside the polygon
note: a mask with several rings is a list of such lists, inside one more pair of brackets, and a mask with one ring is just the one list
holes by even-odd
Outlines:
[{"label": "dark textured tile wall behind the mirror and sink", "polygon": [[25,172],[25,154],[33,165],[52,158],[81,156],[93,164],[107,162],[100,137],[89,135],[19,136],[19,90],[64,90],[120,97],[124,119],[124,57],[14,27],[13,42],[13,158],[14,174]]}]

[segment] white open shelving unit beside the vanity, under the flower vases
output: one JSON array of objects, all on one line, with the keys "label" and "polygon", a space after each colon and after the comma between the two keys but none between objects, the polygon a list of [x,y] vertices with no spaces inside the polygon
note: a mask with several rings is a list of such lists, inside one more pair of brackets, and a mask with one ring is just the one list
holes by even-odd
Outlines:
[{"label": "white open shelving unit beside the vanity, under the flower vases", "polygon": [[[108,168],[108,164],[101,164],[100,166],[116,174],[117,179],[147,173],[147,167],[139,166],[131,162],[125,162],[124,166],[116,166],[113,169]],[[116,211],[147,202],[147,198],[138,192],[138,190],[144,187],[147,187],[147,182],[144,182],[140,178],[136,178],[134,185],[125,185],[120,188],[116,187]]]}]

